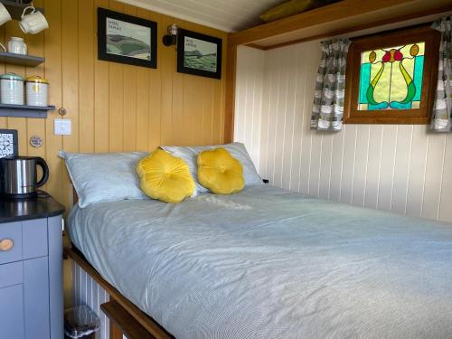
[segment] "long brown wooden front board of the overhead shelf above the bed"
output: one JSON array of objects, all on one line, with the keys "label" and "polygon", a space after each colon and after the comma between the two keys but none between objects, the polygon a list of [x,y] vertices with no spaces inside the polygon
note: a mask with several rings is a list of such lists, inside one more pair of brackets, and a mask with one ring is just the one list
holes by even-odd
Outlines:
[{"label": "long brown wooden front board of the overhead shelf above the bed", "polygon": [[[423,0],[425,1],[425,0]],[[403,13],[399,5],[419,4],[420,0],[344,0],[333,5],[326,5],[301,14],[288,16],[286,18],[261,24],[250,29],[231,33],[228,42],[231,44],[247,44],[265,40],[285,33],[302,30],[307,27],[331,23],[338,20],[346,20],[361,14],[371,14],[381,9],[393,9],[394,14]],[[406,6],[405,6],[406,7]],[[394,16],[394,15],[386,15]],[[372,19],[368,17],[366,21]]]}]

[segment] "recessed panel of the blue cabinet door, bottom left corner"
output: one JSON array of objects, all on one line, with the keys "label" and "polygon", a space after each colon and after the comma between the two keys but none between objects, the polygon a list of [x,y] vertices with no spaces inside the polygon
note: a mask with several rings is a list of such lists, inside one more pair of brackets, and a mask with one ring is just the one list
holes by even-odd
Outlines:
[{"label": "recessed panel of the blue cabinet door, bottom left corner", "polygon": [[0,337],[24,339],[23,285],[0,288]]}]

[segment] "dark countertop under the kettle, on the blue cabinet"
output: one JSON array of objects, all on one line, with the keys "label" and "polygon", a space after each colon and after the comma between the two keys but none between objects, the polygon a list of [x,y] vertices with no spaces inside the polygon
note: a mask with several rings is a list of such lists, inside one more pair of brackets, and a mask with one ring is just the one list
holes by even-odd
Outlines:
[{"label": "dark countertop under the kettle, on the blue cabinet", "polygon": [[48,218],[63,212],[64,206],[48,193],[41,192],[37,198],[29,199],[0,198],[0,223]]}]

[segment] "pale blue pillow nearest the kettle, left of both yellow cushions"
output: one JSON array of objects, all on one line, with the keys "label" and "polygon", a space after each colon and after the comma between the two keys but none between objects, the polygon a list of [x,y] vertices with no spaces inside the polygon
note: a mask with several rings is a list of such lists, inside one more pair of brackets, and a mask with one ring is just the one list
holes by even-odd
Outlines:
[{"label": "pale blue pillow nearest the kettle, left of both yellow cushions", "polygon": [[148,153],[67,153],[65,160],[72,184],[79,195],[80,208],[91,203],[126,199],[146,199],[136,171]]}]

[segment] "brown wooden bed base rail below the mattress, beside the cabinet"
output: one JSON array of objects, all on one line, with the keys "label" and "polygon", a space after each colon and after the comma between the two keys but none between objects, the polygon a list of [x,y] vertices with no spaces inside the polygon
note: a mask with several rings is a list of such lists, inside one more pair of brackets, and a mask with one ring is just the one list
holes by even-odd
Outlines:
[{"label": "brown wooden bed base rail below the mattress, beside the cabinet", "polygon": [[74,260],[80,268],[83,268],[90,278],[95,280],[100,287],[104,288],[110,296],[108,303],[102,304],[101,309],[110,320],[110,339],[122,339],[125,334],[128,339],[169,339],[173,335],[165,331],[153,318],[146,315],[137,306],[124,297],[117,288],[113,287],[99,272],[94,269],[84,258],[83,254],[75,247],[64,248],[66,258]]}]

